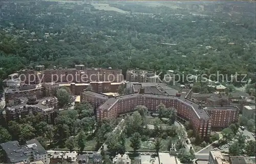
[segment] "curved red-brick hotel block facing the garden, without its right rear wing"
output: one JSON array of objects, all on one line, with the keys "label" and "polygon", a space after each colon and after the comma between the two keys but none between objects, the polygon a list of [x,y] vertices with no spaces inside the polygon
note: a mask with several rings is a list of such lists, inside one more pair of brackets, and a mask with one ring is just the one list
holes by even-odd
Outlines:
[{"label": "curved red-brick hotel block facing the garden, without its right rear wing", "polygon": [[[203,137],[210,135],[210,116],[194,102],[186,102],[184,97],[154,94],[129,94],[109,98],[92,91],[84,91],[81,101],[91,102],[97,107],[97,119],[118,117],[119,114],[132,112],[137,105],[145,105],[149,111],[155,111],[160,103],[166,107],[175,107],[178,115],[191,120],[195,130]],[[195,109],[196,107],[196,109]],[[156,111],[157,112],[157,111]],[[197,127],[197,128],[196,128]]]}]

